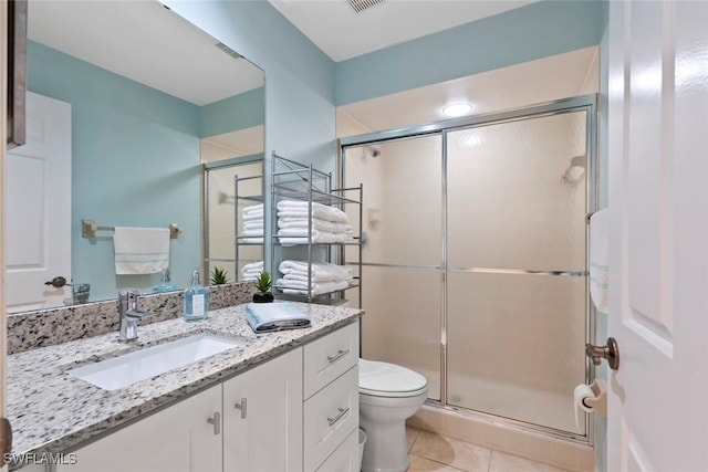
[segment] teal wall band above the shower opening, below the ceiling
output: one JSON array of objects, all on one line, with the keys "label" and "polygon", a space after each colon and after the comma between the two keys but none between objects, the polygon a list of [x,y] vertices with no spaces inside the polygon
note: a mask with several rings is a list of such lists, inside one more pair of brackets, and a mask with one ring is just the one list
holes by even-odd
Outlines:
[{"label": "teal wall band above the shower opening, below the ceiling", "polygon": [[541,1],[340,62],[335,104],[600,44],[606,8],[602,0]]}]

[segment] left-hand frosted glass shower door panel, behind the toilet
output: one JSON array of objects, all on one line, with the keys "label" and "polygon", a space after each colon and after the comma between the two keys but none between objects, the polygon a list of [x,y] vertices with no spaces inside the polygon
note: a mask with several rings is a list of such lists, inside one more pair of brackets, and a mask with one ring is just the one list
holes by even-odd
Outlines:
[{"label": "left-hand frosted glass shower door panel, behind the toilet", "polygon": [[345,187],[364,186],[362,357],[425,375],[428,397],[436,400],[442,318],[441,149],[436,134],[344,151]]}]

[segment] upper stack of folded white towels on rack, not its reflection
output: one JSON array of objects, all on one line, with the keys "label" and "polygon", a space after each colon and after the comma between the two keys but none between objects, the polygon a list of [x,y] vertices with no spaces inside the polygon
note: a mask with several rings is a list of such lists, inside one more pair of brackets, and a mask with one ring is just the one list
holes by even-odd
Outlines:
[{"label": "upper stack of folded white towels on rack, not its reflection", "polygon": [[[278,202],[278,235],[283,245],[313,243],[341,243],[352,241],[352,227],[346,213],[337,208],[300,200]],[[312,235],[312,241],[309,237]]]}]

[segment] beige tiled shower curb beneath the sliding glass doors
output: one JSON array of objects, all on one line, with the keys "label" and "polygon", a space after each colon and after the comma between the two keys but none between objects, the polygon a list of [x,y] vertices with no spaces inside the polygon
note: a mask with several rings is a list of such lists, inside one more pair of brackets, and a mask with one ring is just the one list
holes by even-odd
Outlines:
[{"label": "beige tiled shower curb beneath the sliding glass doors", "polygon": [[575,472],[594,470],[592,447],[544,437],[483,418],[424,406],[408,424]]}]

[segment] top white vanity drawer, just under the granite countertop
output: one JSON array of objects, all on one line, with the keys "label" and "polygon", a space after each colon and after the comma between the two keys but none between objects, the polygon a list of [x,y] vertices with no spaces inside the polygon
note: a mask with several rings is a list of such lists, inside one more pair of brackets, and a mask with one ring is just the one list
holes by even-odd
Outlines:
[{"label": "top white vanity drawer, just under the granite countertop", "polygon": [[[358,363],[358,322],[304,346],[304,398]],[[358,388],[358,387],[357,387]]]}]

